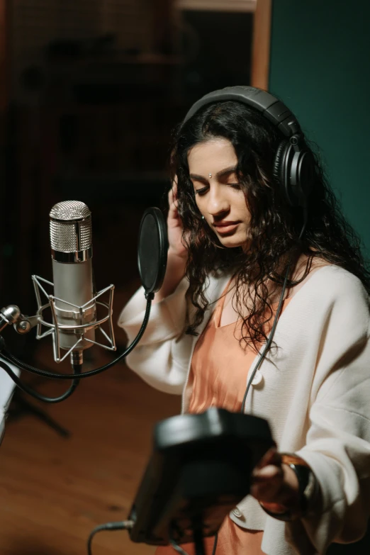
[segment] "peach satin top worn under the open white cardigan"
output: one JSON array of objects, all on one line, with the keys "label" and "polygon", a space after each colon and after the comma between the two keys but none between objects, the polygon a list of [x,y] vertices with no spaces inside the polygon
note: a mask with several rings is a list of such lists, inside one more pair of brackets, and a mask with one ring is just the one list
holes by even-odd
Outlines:
[{"label": "peach satin top worn under the open white cardigan", "polygon": [[[252,347],[240,346],[241,320],[220,326],[225,293],[229,285],[199,337],[191,359],[189,385],[192,386],[192,393],[189,413],[192,414],[203,413],[211,406],[234,413],[240,412],[242,408],[250,377],[248,374],[256,353]],[[284,308],[288,301],[287,299],[284,302]],[[277,305],[272,308],[277,308]],[[215,555],[263,555],[262,534],[263,530],[241,528],[226,517],[218,532]],[[213,542],[213,537],[205,539],[206,555],[213,553]],[[194,544],[182,544],[181,547],[187,554],[195,555]],[[155,551],[155,555],[174,553],[172,546],[161,546]]]}]

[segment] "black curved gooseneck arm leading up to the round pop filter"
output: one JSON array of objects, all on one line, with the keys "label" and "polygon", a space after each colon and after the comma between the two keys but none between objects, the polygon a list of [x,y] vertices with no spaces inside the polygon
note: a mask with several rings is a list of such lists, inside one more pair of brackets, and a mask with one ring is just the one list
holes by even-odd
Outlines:
[{"label": "black curved gooseneck arm leading up to the round pop filter", "polygon": [[[111,368],[111,366],[113,366],[118,361],[120,361],[124,357],[127,357],[128,354],[130,354],[130,352],[136,347],[136,345],[138,344],[138,342],[142,338],[143,333],[145,332],[145,328],[147,327],[147,322],[148,322],[149,316],[150,316],[150,308],[152,306],[152,299],[153,298],[154,298],[154,293],[147,296],[147,306],[146,306],[146,309],[145,309],[144,320],[142,321],[142,325],[140,327],[138,335],[135,337],[135,339],[130,344],[130,346],[122,354],[120,354],[119,357],[117,357],[116,359],[114,359],[111,362],[108,362],[108,364],[106,364],[105,366],[101,366],[101,368],[97,368],[95,370],[90,370],[88,372],[82,372],[81,374],[79,374],[79,379],[87,378],[89,376],[95,376],[96,374],[100,374],[101,372],[108,370],[109,368]],[[33,366],[30,366],[30,364],[26,364],[26,362],[23,362],[23,361],[17,359],[16,357],[13,356],[13,354],[6,351],[6,349],[1,351],[1,357],[4,357],[4,359],[11,362],[12,364],[16,364],[16,366],[18,366],[22,370],[26,370],[26,371],[30,372],[31,374],[37,374],[38,376],[43,376],[44,378],[51,378],[51,379],[57,379],[57,380],[74,379],[74,374],[55,374],[55,373],[52,373],[52,372],[48,372],[46,370],[38,370],[37,368],[34,368]],[[11,379],[13,379],[13,376],[11,376]]]}]

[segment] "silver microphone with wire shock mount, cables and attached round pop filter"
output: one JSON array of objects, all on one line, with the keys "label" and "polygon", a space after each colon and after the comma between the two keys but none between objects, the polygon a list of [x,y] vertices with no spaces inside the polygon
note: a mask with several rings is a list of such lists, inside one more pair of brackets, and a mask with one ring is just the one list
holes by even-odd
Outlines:
[{"label": "silver microphone with wire shock mount, cables and attached round pop filter", "polygon": [[[152,299],[162,286],[167,266],[166,231],[166,223],[159,208],[148,208],[142,217],[139,235],[138,266],[147,300],[145,317],[140,331],[135,340],[119,357],[101,368],[82,372],[84,349],[97,345],[108,351],[116,351],[112,319],[114,285],[103,288],[101,291],[95,291],[91,264],[91,212],[89,208],[80,201],[65,201],[55,204],[50,211],[50,245],[54,283],[33,275],[38,310],[35,315],[28,316],[22,314],[16,305],[2,308],[0,310],[0,333],[7,326],[13,325],[20,334],[28,333],[33,327],[37,327],[36,339],[38,340],[52,335],[55,362],[59,364],[70,356],[74,373],[57,374],[33,368],[7,351],[0,335],[0,352],[4,354],[6,360],[21,369],[33,372],[33,374],[52,379],[76,380],[76,375],[79,374],[77,379],[79,381],[84,377],[99,374],[127,357],[145,332],[150,317]],[[148,258],[149,260],[147,260]],[[47,291],[50,287],[52,287],[51,294]],[[107,298],[104,300],[106,293],[109,295],[108,300]],[[46,310],[51,310],[51,321],[44,315]],[[106,325],[105,327],[108,329],[104,330],[103,325]],[[97,330],[96,334],[95,330]],[[96,336],[98,336],[98,340],[96,340]],[[66,351],[65,354],[61,354],[62,349]],[[5,368],[0,364],[0,367],[8,372],[19,387],[23,387],[23,391],[39,400],[58,403],[72,393],[71,388],[67,391],[67,396],[57,399],[45,398],[23,386],[18,377],[14,376],[9,365]]]}]

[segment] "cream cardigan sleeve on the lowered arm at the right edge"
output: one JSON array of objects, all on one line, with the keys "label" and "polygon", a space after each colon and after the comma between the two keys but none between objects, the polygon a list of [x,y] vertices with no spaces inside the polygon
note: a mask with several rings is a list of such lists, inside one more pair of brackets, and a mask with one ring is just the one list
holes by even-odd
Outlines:
[{"label": "cream cardigan sleeve on the lowered arm at the right edge", "polygon": [[287,539],[300,554],[324,554],[332,542],[356,542],[370,515],[369,298],[357,278],[344,281],[327,313],[310,427],[297,452],[320,485],[317,511],[286,525]]}]

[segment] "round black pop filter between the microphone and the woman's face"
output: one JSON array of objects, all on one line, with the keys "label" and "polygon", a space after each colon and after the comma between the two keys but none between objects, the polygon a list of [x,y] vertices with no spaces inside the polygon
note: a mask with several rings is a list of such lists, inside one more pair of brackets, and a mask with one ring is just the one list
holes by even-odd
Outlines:
[{"label": "round black pop filter between the microphone and the woman's face", "polygon": [[138,267],[145,296],[162,286],[167,267],[167,224],[159,208],[147,208],[140,223]]}]

